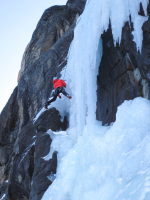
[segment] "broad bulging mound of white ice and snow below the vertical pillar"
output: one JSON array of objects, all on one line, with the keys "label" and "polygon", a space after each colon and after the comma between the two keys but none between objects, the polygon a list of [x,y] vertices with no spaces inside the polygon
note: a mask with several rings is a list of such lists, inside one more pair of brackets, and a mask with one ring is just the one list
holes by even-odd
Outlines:
[{"label": "broad bulging mound of white ice and snow below the vertical pillar", "polygon": [[136,98],[118,108],[112,126],[86,125],[72,146],[68,136],[66,143],[65,136],[55,138],[53,151],[61,156],[56,179],[42,199],[148,200],[149,114],[150,102]]}]

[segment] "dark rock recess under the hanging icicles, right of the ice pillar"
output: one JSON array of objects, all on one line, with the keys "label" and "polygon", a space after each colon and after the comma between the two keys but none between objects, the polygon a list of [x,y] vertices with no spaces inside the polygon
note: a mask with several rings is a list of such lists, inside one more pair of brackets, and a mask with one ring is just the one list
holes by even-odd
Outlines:
[{"label": "dark rock recess under the hanging icicles, right of the ice pillar", "polygon": [[127,23],[120,46],[114,47],[111,28],[103,34],[103,56],[98,75],[97,119],[115,121],[117,106],[138,96],[150,99],[150,18],[143,25],[143,46],[136,50]]}]

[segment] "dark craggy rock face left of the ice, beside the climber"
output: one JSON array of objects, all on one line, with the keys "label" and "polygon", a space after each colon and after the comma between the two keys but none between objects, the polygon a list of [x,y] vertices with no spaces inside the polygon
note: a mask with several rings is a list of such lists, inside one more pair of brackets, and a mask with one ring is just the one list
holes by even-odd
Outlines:
[{"label": "dark craggy rock face left of the ice, beside the climber", "polygon": [[[18,76],[18,86],[0,115],[0,198],[40,200],[52,183],[57,152],[43,159],[50,150],[46,133],[66,130],[67,116],[61,120],[52,108],[33,124],[52,90],[52,78],[60,77],[73,39],[78,16],[85,0],[68,1],[66,6],[48,8],[28,44]],[[49,178],[50,176],[50,178]]]}]

